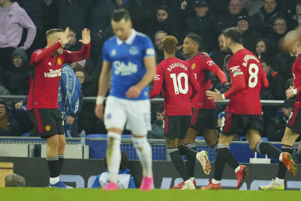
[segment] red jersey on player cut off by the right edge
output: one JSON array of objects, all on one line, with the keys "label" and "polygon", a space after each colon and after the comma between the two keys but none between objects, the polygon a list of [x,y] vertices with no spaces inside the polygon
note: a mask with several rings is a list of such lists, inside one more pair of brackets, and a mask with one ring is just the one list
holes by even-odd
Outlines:
[{"label": "red jersey on player cut off by the right edge", "polygon": [[[298,88],[301,85],[301,54],[296,58],[293,68],[292,68],[294,86]],[[295,99],[295,106],[301,107],[301,93],[297,94]]]}]

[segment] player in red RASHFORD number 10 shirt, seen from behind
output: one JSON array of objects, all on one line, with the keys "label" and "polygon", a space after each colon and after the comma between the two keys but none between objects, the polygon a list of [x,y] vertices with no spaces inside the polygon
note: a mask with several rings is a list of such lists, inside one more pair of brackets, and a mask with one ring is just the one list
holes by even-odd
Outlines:
[{"label": "player in red RASHFORD number 10 shirt, seen from behind", "polygon": [[[162,49],[165,59],[157,66],[157,74],[154,78],[153,88],[150,90],[150,99],[163,91],[165,117],[163,133],[167,143],[167,151],[173,165],[184,181],[182,189],[195,189],[179,152],[197,158],[201,164],[201,152],[183,145],[184,139],[191,121],[191,107],[189,97],[189,85],[192,86],[192,97],[199,91],[199,85],[193,74],[192,68],[175,57],[177,39],[174,36],[166,36]],[[204,152],[204,151],[203,151]]]}]

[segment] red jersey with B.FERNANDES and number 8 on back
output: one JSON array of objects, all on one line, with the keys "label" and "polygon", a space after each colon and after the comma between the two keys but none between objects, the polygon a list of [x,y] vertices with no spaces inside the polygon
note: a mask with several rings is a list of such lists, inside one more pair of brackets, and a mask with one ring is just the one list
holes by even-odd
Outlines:
[{"label": "red jersey with B.FERNANDES and number 8 on back", "polygon": [[[238,75],[244,76],[245,88],[230,96],[226,111],[234,114],[261,115],[259,93],[262,87],[267,87],[268,82],[259,58],[244,48],[230,57],[228,68],[232,79],[231,90],[235,89],[237,83],[234,78]],[[231,90],[226,92],[225,96],[230,94]]]}]

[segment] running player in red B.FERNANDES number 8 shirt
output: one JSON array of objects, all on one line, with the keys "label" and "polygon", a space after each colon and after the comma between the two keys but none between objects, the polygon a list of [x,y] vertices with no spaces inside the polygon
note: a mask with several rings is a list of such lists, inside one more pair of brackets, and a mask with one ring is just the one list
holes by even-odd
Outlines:
[{"label": "running player in red B.FERNANDES number 8 shirt", "polygon": [[[216,151],[214,177],[202,190],[221,189],[221,177],[229,155],[229,145],[237,130],[242,129],[249,140],[253,151],[279,158],[285,166],[289,166],[292,175],[297,167],[287,152],[281,152],[269,142],[262,142],[260,131],[263,129],[261,103],[259,93],[268,87],[266,74],[261,61],[252,52],[242,46],[240,30],[235,27],[223,31],[224,47],[233,53],[228,60],[228,68],[232,78],[232,88],[224,94],[217,89],[206,91],[208,99],[224,100],[230,98],[220,128],[219,144]],[[252,98],[250,98],[252,97]]]}]

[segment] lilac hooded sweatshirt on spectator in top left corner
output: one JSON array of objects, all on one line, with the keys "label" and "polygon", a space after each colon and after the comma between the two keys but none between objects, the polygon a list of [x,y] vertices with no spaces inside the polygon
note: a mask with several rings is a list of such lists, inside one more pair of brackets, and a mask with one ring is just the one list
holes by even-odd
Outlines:
[{"label": "lilac hooded sweatshirt on spectator in top left corner", "polygon": [[23,28],[28,31],[24,50],[27,50],[34,41],[36,27],[17,2],[7,8],[0,6],[0,27],[0,48],[17,47],[21,41]]}]

